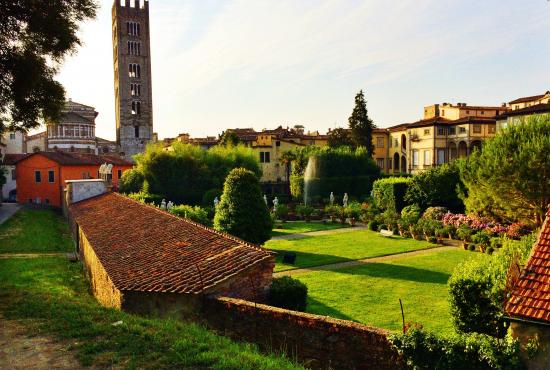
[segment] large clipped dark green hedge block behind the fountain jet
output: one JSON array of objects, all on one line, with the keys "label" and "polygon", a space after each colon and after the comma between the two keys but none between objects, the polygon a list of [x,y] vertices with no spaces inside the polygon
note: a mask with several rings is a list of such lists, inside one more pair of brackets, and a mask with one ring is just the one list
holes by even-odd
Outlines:
[{"label": "large clipped dark green hedge block behind the fountain jet", "polygon": [[320,202],[330,192],[343,196],[365,198],[372,189],[372,183],[380,176],[380,169],[364,148],[352,150],[340,148],[309,148],[295,152],[292,162],[290,187],[295,198],[303,198],[305,186],[304,173],[311,158],[315,168],[313,177],[308,179],[309,196],[314,202]]}]

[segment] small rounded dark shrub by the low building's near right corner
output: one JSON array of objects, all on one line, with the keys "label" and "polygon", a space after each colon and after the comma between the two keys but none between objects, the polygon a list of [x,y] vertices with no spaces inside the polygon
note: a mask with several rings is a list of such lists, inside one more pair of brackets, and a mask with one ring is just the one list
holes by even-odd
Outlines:
[{"label": "small rounded dark shrub by the low building's near right corner", "polygon": [[307,286],[290,276],[273,279],[268,293],[270,305],[288,310],[305,311]]}]

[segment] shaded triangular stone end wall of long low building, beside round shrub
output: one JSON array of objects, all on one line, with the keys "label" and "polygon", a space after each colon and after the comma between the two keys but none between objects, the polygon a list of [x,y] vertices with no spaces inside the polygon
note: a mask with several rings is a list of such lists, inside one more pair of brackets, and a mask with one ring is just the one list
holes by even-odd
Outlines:
[{"label": "shaded triangular stone end wall of long low building, beside round shrub", "polygon": [[273,280],[274,267],[274,257],[257,263],[216,286],[211,295],[264,302]]}]

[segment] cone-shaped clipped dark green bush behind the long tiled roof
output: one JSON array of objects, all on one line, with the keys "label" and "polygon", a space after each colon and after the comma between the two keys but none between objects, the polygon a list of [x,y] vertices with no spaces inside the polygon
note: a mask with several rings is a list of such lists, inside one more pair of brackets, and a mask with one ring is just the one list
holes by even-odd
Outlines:
[{"label": "cone-shaped clipped dark green bush behind the long tiled roof", "polygon": [[214,217],[214,228],[251,243],[263,244],[273,227],[258,177],[244,168],[231,170]]}]

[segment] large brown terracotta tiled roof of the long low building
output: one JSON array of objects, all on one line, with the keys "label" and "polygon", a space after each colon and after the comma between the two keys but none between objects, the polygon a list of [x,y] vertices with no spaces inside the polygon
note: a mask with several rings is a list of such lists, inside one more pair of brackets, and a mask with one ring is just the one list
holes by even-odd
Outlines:
[{"label": "large brown terracotta tiled roof of the long low building", "polygon": [[273,258],[261,247],[116,193],[74,203],[70,212],[123,291],[207,292]]}]

